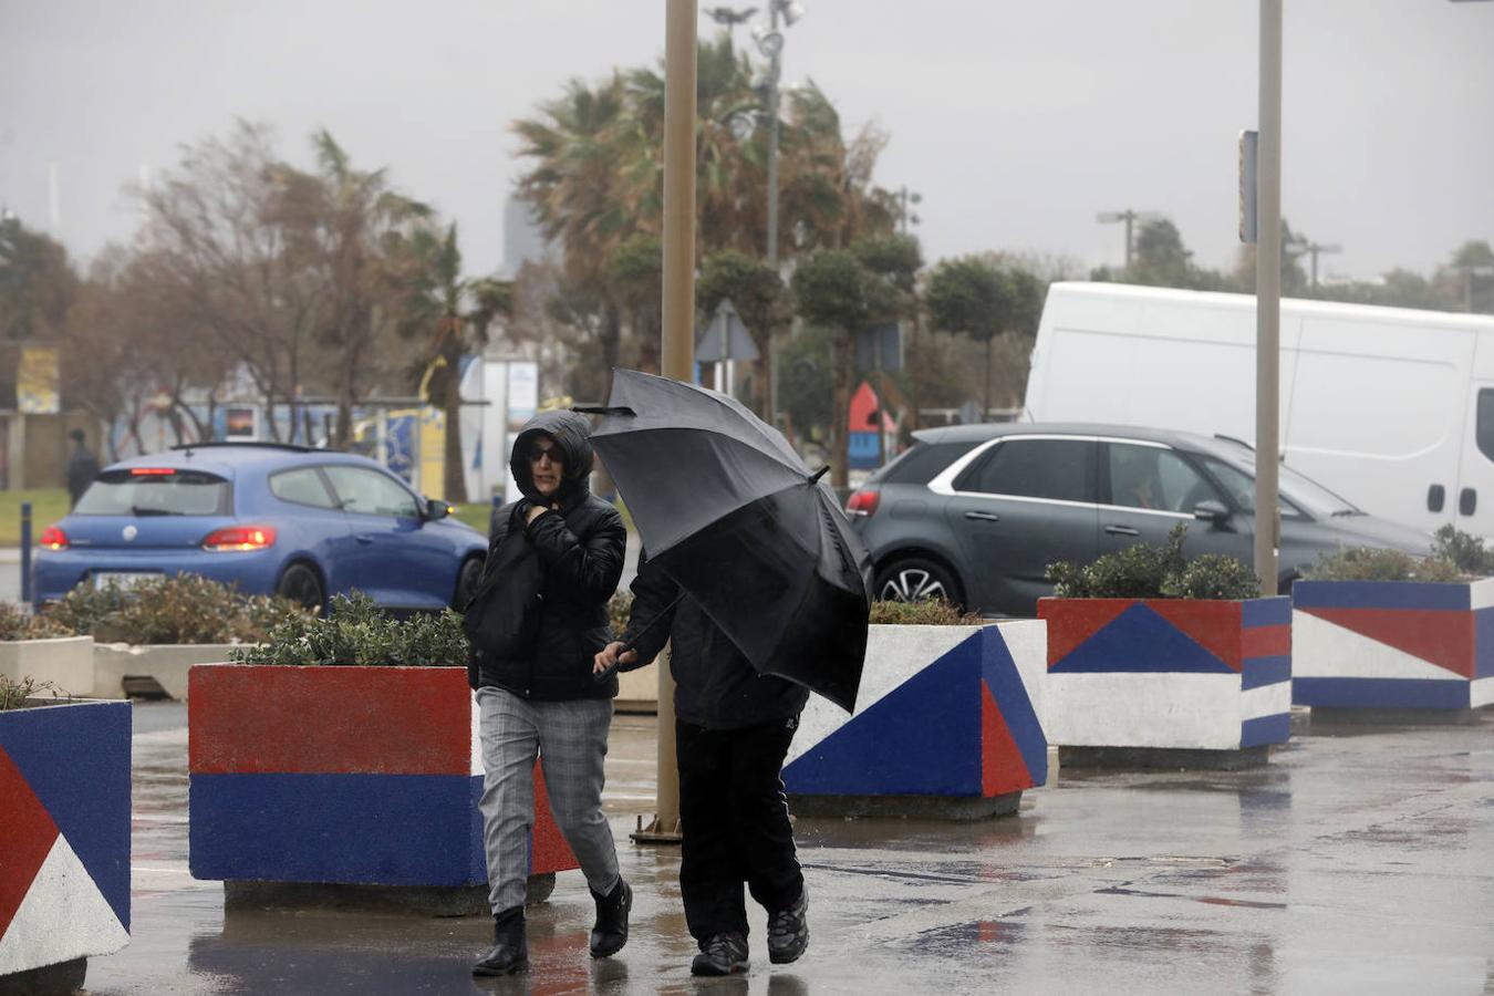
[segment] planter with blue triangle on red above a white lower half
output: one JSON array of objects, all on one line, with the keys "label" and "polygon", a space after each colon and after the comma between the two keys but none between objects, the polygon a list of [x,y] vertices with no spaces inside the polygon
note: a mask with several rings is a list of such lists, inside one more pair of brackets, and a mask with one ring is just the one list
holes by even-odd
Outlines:
[{"label": "planter with blue triangle on red above a white lower half", "polygon": [[1047,736],[1242,750],[1291,730],[1291,599],[1041,599]]}]

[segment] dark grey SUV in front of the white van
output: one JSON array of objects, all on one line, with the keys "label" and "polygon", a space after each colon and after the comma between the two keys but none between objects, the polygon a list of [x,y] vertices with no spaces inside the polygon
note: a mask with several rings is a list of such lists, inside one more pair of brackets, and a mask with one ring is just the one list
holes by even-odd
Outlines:
[{"label": "dark grey SUV in front of the white van", "polygon": [[[952,426],[914,439],[846,503],[880,599],[1034,615],[1052,594],[1049,563],[1161,544],[1179,521],[1189,523],[1188,555],[1252,561],[1255,454],[1245,443],[1085,424]],[[1431,547],[1285,466],[1280,511],[1283,591],[1339,547]]]}]

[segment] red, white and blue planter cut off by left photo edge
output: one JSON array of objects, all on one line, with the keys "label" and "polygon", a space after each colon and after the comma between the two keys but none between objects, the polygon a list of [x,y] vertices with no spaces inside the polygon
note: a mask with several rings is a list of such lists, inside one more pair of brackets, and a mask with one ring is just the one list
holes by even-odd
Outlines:
[{"label": "red, white and blue planter cut off by left photo edge", "polygon": [[0,989],[130,942],[130,703],[0,712]]}]

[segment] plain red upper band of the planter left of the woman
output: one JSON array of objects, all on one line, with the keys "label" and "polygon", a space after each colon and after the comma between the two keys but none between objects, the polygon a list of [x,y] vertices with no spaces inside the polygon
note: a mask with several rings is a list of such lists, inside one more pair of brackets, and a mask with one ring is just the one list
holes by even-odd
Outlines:
[{"label": "plain red upper band of the planter left of the woman", "polygon": [[460,667],[199,664],[188,673],[197,775],[469,775]]}]

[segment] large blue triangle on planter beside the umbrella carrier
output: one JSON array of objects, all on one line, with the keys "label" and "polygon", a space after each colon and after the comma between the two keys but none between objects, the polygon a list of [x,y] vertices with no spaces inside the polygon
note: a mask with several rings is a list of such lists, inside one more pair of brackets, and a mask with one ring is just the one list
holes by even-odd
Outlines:
[{"label": "large blue triangle on planter beside the umbrella carrier", "polygon": [[793,794],[979,796],[980,633],[783,769]]}]

